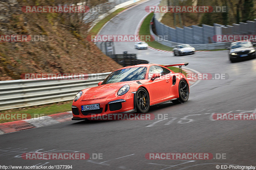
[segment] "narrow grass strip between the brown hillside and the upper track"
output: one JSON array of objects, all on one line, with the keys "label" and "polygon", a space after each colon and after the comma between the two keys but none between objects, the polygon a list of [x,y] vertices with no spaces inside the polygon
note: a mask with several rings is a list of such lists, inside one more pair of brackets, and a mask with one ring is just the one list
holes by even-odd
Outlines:
[{"label": "narrow grass strip between the brown hillside and the upper track", "polygon": [[95,26],[93,26],[92,30],[89,32],[89,35],[96,35],[102,26],[104,26],[110,19],[114,18],[119,12],[124,11],[126,8],[118,8],[115,12],[112,12],[107,17],[100,20]]}]

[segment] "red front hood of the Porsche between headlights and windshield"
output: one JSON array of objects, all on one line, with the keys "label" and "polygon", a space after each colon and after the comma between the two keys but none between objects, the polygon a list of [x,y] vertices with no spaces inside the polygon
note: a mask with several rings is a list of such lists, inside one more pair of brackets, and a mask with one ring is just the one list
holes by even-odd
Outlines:
[{"label": "red front hood of the Porsche between headlights and windshield", "polygon": [[131,82],[119,82],[91,87],[89,90],[85,91],[81,100],[95,100],[108,97],[110,94],[117,92],[122,86],[130,83]]}]

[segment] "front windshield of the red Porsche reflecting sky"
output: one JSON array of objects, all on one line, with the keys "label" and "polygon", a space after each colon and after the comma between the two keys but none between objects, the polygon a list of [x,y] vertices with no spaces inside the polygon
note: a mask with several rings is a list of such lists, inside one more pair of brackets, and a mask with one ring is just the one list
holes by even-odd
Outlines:
[{"label": "front windshield of the red Porsche reflecting sky", "polygon": [[104,84],[123,81],[143,80],[146,77],[147,67],[132,67],[112,72],[103,82]]}]

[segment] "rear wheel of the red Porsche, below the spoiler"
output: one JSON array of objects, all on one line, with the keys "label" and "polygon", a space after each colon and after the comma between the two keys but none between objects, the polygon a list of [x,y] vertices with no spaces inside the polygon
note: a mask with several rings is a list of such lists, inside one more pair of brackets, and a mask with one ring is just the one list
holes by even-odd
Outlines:
[{"label": "rear wheel of the red Porsche, below the spoiler", "polygon": [[179,104],[179,103],[184,103],[188,101],[189,97],[189,87],[188,83],[181,79],[179,83],[179,98],[177,100],[172,100],[172,103],[174,104]]}]

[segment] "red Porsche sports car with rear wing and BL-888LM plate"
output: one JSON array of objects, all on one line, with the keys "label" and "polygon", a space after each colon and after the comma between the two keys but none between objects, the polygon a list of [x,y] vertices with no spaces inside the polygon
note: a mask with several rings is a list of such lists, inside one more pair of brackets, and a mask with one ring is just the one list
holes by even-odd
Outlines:
[{"label": "red Porsche sports car with rear wing and BL-888LM plate", "polygon": [[[186,102],[189,82],[181,73],[182,65],[188,63],[139,64],[115,70],[97,87],[76,94],[72,120],[114,113],[147,113],[156,104]],[[180,73],[168,69],[169,66],[180,66]]]}]

